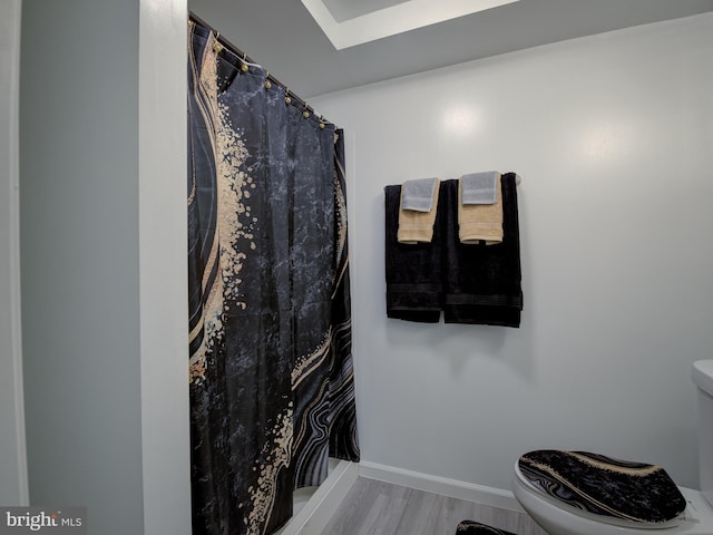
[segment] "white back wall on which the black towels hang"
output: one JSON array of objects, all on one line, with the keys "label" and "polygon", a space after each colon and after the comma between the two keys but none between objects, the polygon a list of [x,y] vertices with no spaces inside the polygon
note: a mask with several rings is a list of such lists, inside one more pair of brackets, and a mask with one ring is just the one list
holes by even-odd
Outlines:
[{"label": "white back wall on which the black towels hang", "polygon": [[[576,448],[697,484],[713,353],[713,14],[313,98],[349,139],[363,459],[509,488]],[[516,171],[519,330],[384,312],[383,186]]]}]

